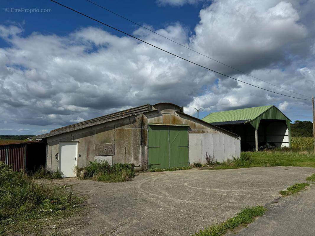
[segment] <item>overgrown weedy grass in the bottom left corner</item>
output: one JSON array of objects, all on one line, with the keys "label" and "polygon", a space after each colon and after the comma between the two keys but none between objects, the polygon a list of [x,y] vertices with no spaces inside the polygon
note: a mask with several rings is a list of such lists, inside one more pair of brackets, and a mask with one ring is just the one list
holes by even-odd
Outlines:
[{"label": "overgrown weedy grass in the bottom left corner", "polygon": [[[0,162],[0,235],[47,233],[79,211],[71,187],[38,183]],[[36,227],[35,227],[36,226]],[[53,228],[55,226],[55,228]]]}]

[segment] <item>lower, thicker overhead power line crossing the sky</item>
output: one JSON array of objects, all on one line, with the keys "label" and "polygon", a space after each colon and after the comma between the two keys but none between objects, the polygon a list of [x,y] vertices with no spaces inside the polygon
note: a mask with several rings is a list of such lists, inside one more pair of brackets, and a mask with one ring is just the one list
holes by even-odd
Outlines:
[{"label": "lower, thicker overhead power line crossing the sky", "polygon": [[[200,66],[200,67],[202,67],[202,68],[204,68],[204,69],[213,71],[213,72],[215,72],[215,73],[217,73],[217,74],[219,74],[219,75],[226,76],[226,77],[231,78],[231,79],[233,79],[233,80],[242,82],[242,83],[244,83],[244,84],[251,85],[251,86],[256,87],[256,88],[263,89],[263,90],[268,91],[268,92],[271,92],[271,93],[276,93],[276,94],[279,94],[279,95],[282,95],[282,96],[286,96],[286,97],[289,97],[289,98],[296,98],[296,97],[292,97],[292,96],[285,95],[285,94],[282,94],[282,93],[277,93],[277,92],[268,90],[268,89],[266,89],[266,88],[258,87],[258,86],[256,86],[256,85],[247,83],[247,82],[245,82],[245,81],[241,81],[241,80],[235,79],[235,78],[233,78],[233,77],[231,77],[231,76],[222,74],[221,72],[212,70],[212,69],[210,69],[210,68],[208,68],[208,67],[205,67],[205,66],[203,66],[203,65],[199,65],[199,64],[197,64],[197,63],[195,63],[195,62],[192,62],[192,61],[190,61],[190,60],[188,60],[188,59],[185,59],[185,58],[183,58],[183,57],[180,57],[180,56],[178,56],[178,55],[176,55],[176,54],[174,54],[174,53],[171,53],[171,52],[166,51],[166,50],[164,50],[164,49],[162,49],[162,48],[159,48],[159,47],[157,47],[157,46],[155,46],[155,45],[153,45],[153,44],[151,44],[151,43],[148,43],[148,42],[146,42],[146,41],[144,41],[144,40],[142,40],[142,39],[140,39],[140,38],[137,38],[137,37],[135,37],[135,36],[133,36],[133,35],[131,35],[131,34],[128,34],[128,33],[124,32],[124,31],[121,31],[121,30],[119,30],[119,29],[117,29],[117,28],[115,28],[115,27],[113,27],[113,26],[111,26],[111,25],[107,25],[106,23],[101,22],[101,21],[99,21],[99,20],[96,20],[95,18],[90,17],[90,16],[88,16],[88,15],[86,15],[86,14],[83,14],[82,12],[79,12],[79,11],[73,9],[73,8],[67,7],[66,5],[63,5],[63,4],[61,4],[61,3],[58,3],[58,2],[56,2],[56,1],[54,1],[54,0],[50,0],[50,1],[51,1],[51,2],[54,2],[54,3],[57,3],[57,4],[59,4],[60,6],[63,6],[63,7],[65,7],[65,8],[68,8],[69,10],[72,10],[72,11],[74,11],[74,12],[80,14],[80,15],[83,15],[83,16],[85,16],[85,17],[91,19],[91,20],[94,20],[94,21],[96,21],[96,22],[98,22],[98,23],[100,23],[100,24],[102,24],[102,25],[106,25],[107,27],[112,28],[113,30],[116,30],[116,31],[121,32],[121,33],[123,33],[123,34],[125,34],[125,35],[128,35],[129,37],[132,37],[132,38],[137,39],[137,40],[139,40],[139,41],[141,41],[141,42],[144,42],[144,43],[146,43],[146,44],[148,44],[148,45],[150,45],[150,46],[152,46],[152,47],[154,47],[154,48],[160,49],[160,50],[163,51],[163,52],[169,53],[169,54],[171,54],[171,55],[173,55],[173,56],[175,56],[175,57],[178,57],[178,58],[180,58],[180,59],[183,59],[183,60],[185,60],[185,61],[187,61],[187,62],[190,62],[190,63],[192,63],[192,64],[194,64],[194,65],[198,65],[198,66]],[[311,101],[311,100],[312,100],[312,99],[305,99],[305,98],[296,98],[296,99],[308,100],[308,101]]]}]

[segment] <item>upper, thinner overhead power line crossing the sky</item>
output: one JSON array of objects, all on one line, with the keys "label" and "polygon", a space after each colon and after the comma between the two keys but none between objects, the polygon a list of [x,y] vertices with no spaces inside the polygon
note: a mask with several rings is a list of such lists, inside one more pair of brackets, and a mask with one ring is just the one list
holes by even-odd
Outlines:
[{"label": "upper, thinner overhead power line crossing the sky", "polygon": [[161,37],[163,37],[163,38],[165,38],[165,39],[168,39],[169,41],[175,42],[176,44],[178,44],[178,45],[180,45],[180,46],[182,46],[182,47],[184,47],[184,48],[187,48],[187,49],[189,49],[189,50],[191,50],[191,51],[193,51],[193,52],[195,52],[195,53],[198,53],[198,54],[200,54],[200,55],[202,55],[202,56],[204,56],[204,57],[206,57],[206,58],[209,58],[209,59],[211,59],[211,60],[213,60],[213,61],[215,61],[215,62],[218,62],[218,63],[220,63],[220,64],[222,64],[222,65],[225,65],[225,66],[227,66],[227,67],[229,67],[229,68],[231,68],[231,69],[233,69],[233,70],[237,70],[238,72],[241,72],[241,73],[243,73],[244,75],[248,75],[248,76],[250,76],[250,77],[253,77],[253,78],[255,78],[255,79],[258,79],[258,80],[260,80],[260,81],[263,81],[263,82],[265,82],[265,83],[267,83],[267,84],[273,85],[273,86],[275,86],[275,87],[281,88],[281,89],[286,90],[286,91],[288,91],[288,92],[295,93],[295,94],[304,96],[304,97],[306,97],[306,98],[311,98],[311,97],[305,96],[305,95],[303,95],[303,94],[296,93],[296,92],[294,92],[294,91],[285,89],[285,88],[280,87],[280,86],[278,86],[278,85],[272,84],[272,83],[270,83],[270,82],[267,82],[267,81],[265,81],[265,80],[262,80],[262,79],[260,79],[260,78],[255,77],[255,76],[252,76],[252,75],[250,75],[250,74],[248,74],[248,73],[246,73],[246,72],[243,72],[242,70],[238,70],[238,69],[235,68],[235,67],[232,67],[232,66],[230,66],[230,65],[227,65],[227,64],[225,64],[225,63],[223,63],[223,62],[220,62],[220,61],[218,61],[218,60],[216,60],[216,59],[213,59],[213,58],[211,58],[211,57],[209,57],[209,56],[207,56],[207,55],[204,55],[203,53],[199,53],[198,51],[195,51],[195,50],[193,50],[192,48],[186,47],[185,45],[183,45],[183,44],[181,44],[181,43],[179,43],[179,42],[176,42],[176,41],[174,41],[174,40],[172,40],[172,39],[170,39],[170,38],[168,38],[168,37],[165,37],[165,36],[163,36],[163,35],[161,35],[161,34],[155,32],[155,31],[153,31],[153,30],[150,30],[149,28],[147,28],[147,27],[145,27],[145,26],[143,26],[143,25],[140,25],[140,24],[136,23],[135,21],[130,20],[130,19],[128,19],[128,18],[126,18],[126,17],[124,17],[124,16],[122,16],[122,15],[120,15],[120,14],[117,14],[117,13],[115,13],[115,12],[113,12],[113,11],[111,11],[111,10],[109,10],[109,9],[107,9],[107,8],[105,8],[105,7],[103,7],[103,6],[100,6],[100,5],[98,5],[97,3],[94,3],[94,2],[92,2],[92,1],[90,1],[90,0],[86,0],[86,1],[89,2],[89,3],[94,4],[95,6],[98,6],[98,7],[100,7],[100,8],[103,8],[104,10],[106,10],[106,11],[112,13],[112,14],[115,14],[115,15],[117,15],[117,16],[119,16],[119,17],[125,19],[125,20],[128,20],[129,22],[132,22],[132,23],[134,23],[134,24],[136,24],[136,25],[139,25],[140,27],[142,27],[142,28],[144,28],[144,29],[146,29],[146,30],[148,30],[148,31],[151,31],[152,33],[155,33],[155,34],[157,34],[157,35],[159,35],[159,36],[161,36]]}]

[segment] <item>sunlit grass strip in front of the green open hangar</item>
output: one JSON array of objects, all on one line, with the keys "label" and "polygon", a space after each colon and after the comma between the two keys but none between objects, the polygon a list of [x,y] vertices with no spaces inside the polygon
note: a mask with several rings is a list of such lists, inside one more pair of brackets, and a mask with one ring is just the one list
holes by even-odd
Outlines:
[{"label": "sunlit grass strip in front of the green open hangar", "polygon": [[301,166],[315,168],[315,155],[312,151],[291,149],[265,150],[260,152],[241,152],[240,158],[226,160],[212,170],[235,169],[260,166]]}]

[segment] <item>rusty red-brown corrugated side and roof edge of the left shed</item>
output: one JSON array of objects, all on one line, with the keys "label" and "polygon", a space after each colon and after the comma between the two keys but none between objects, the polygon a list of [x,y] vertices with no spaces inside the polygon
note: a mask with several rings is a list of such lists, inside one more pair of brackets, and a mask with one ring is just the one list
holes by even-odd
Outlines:
[{"label": "rusty red-brown corrugated side and roof edge of the left shed", "polygon": [[26,149],[29,143],[43,143],[40,141],[0,144],[0,161],[11,165],[14,171],[25,171]]}]

